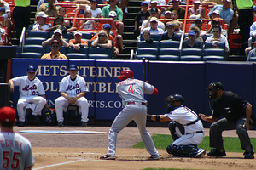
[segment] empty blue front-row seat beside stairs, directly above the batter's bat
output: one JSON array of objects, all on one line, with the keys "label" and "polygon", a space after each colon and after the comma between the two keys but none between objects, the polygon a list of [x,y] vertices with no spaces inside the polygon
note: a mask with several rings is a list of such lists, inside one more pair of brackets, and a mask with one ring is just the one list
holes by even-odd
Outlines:
[{"label": "empty blue front-row seat beside stairs, directly above the batter's bat", "polygon": [[148,59],[157,60],[158,59],[158,48],[137,48],[137,54],[135,59]]}]

